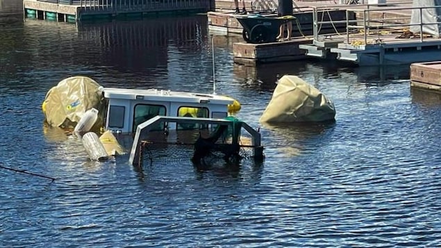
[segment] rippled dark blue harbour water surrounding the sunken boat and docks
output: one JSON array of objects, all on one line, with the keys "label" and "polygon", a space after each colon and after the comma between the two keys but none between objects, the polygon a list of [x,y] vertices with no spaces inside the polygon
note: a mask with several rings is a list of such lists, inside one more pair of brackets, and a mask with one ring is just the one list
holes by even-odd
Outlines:
[{"label": "rippled dark blue harbour water surrounding the sunken boat and docks", "polygon": [[[128,156],[90,162],[80,141],[44,129],[41,104],[67,76],[104,86],[211,92],[206,17],[57,24],[0,0],[1,247],[440,247],[441,99],[408,69],[299,61],[233,63],[239,37],[214,38],[217,92],[260,126],[266,159],[194,169]],[[335,124],[261,126],[276,78],[330,97]]]}]

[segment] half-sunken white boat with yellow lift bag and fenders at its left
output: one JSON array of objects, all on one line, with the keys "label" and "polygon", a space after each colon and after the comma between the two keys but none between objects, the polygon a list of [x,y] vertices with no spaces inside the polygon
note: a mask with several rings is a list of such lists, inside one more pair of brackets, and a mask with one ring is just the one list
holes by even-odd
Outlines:
[{"label": "half-sunken white boat with yellow lift bag and fenders at its left", "polygon": [[[240,103],[231,97],[218,94],[105,88],[91,78],[73,76],[65,78],[49,90],[42,110],[49,126],[74,129],[74,133],[83,138],[85,149],[92,160],[115,155],[115,147],[119,144],[110,145],[113,154],[102,144],[105,140],[116,140],[112,134],[129,134],[134,135],[130,162],[140,164],[140,153],[144,147],[142,144],[151,144],[158,142],[157,140],[169,142],[167,137],[158,137],[168,136],[172,131],[199,133],[199,137],[194,138],[193,135],[194,140],[190,141],[199,144],[199,148],[195,146],[198,154],[218,150],[228,156],[234,153],[238,155],[236,148],[242,145],[240,129],[247,131],[251,137],[247,147],[253,148],[253,157],[263,157],[260,133],[248,124],[231,118],[233,113],[240,110]],[[203,138],[202,130],[206,131],[207,137],[210,138]],[[89,132],[106,133],[107,138],[85,135]],[[146,139],[150,140],[146,142]],[[208,145],[208,142],[211,145]],[[176,141],[174,143],[176,144]],[[206,151],[201,151],[205,149],[201,148],[201,143],[206,144],[203,146]],[[234,149],[225,149],[226,144]]]}]

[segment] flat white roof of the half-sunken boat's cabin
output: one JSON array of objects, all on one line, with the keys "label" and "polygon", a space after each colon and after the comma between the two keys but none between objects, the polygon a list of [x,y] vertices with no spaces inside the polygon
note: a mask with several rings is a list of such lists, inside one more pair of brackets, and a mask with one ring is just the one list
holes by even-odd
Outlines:
[{"label": "flat white roof of the half-sunken boat's cabin", "polygon": [[233,104],[230,97],[217,94],[203,94],[158,89],[124,89],[104,88],[104,97],[108,99],[144,100],[144,101],[174,101],[196,104]]}]

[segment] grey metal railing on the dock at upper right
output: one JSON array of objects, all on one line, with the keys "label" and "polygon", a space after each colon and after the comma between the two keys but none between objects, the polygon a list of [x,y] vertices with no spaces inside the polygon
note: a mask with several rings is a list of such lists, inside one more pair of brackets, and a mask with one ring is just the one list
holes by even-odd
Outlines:
[{"label": "grey metal railing on the dock at upper right", "polygon": [[[412,3],[400,2],[400,3]],[[323,35],[319,35],[320,27],[323,24],[342,24],[345,23],[346,33],[338,33],[335,30],[335,35],[342,38],[347,44],[365,45],[369,43],[381,43],[382,37],[392,33],[403,33],[410,30],[411,26],[419,26],[419,42],[424,42],[423,28],[425,26],[437,25],[440,22],[424,22],[423,12],[429,8],[441,8],[441,6],[412,6],[412,7],[389,7],[389,6],[372,6],[372,5],[356,5],[357,8],[344,7],[346,10],[346,19],[340,21],[333,21],[329,15],[330,20],[322,20],[319,16],[326,15],[331,9],[323,7],[313,7],[313,39],[323,39]],[[339,7],[338,7],[339,8]],[[335,10],[335,9],[334,9]],[[411,23],[412,12],[419,12],[419,19],[414,19]],[[353,13],[357,13],[356,19],[351,19]],[[399,13],[395,15],[395,13]],[[330,35],[324,36],[328,38]],[[416,36],[415,36],[416,37]]]}]

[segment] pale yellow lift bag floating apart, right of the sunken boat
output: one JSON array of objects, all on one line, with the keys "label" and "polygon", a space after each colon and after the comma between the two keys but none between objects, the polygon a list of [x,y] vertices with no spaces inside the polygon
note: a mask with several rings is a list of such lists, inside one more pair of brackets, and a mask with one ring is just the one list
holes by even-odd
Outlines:
[{"label": "pale yellow lift bag floating apart, right of the sunken boat", "polygon": [[260,122],[323,122],[335,118],[335,108],[322,92],[298,76],[278,80]]}]

